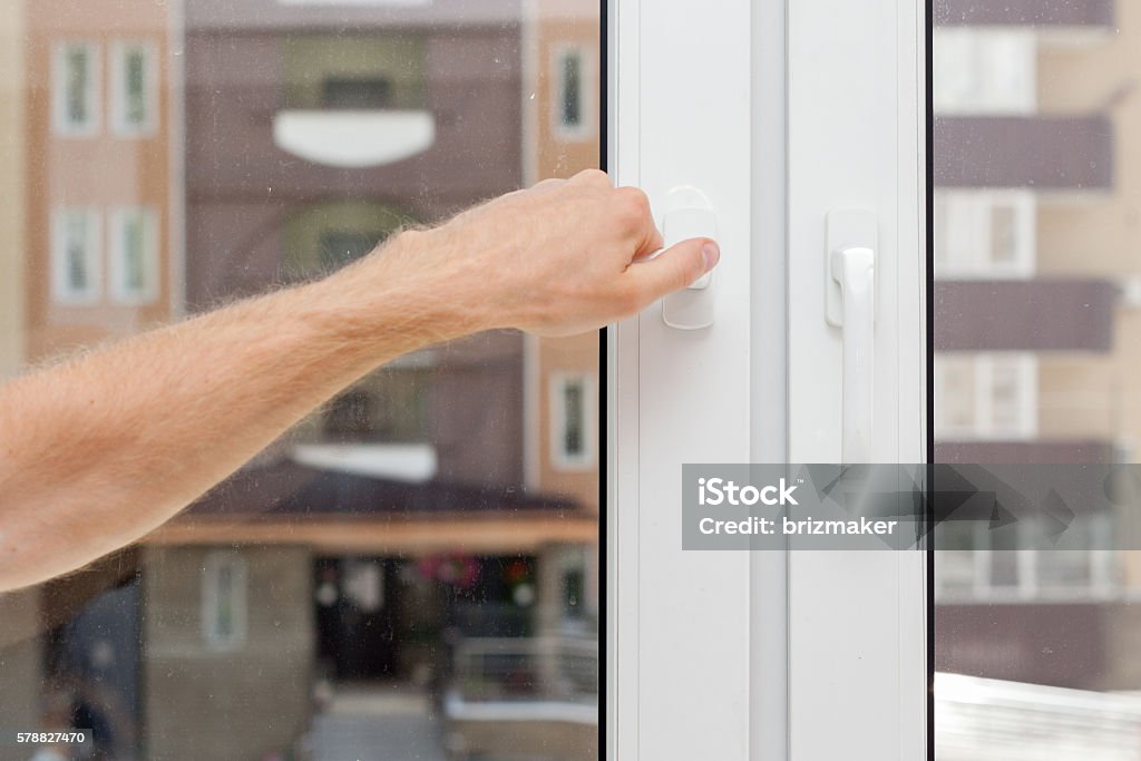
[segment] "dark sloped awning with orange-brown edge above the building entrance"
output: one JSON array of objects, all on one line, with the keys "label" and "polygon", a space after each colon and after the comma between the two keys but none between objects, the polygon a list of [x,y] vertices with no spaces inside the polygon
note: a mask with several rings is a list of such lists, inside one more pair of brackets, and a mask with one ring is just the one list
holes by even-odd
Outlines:
[{"label": "dark sloped awning with orange-brown edge above the building entrance", "polygon": [[515,485],[411,483],[282,461],[240,471],[143,544],[509,554],[552,543],[594,543],[598,533],[598,516],[574,500]]}]

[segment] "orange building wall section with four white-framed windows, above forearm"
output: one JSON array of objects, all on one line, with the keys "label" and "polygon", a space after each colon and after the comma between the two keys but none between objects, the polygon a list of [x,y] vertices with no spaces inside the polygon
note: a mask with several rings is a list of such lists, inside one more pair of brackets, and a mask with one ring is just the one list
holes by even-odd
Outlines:
[{"label": "orange building wall section with four white-framed windows, above forearm", "polygon": [[170,318],[178,126],[170,5],[26,6],[26,358]]}]

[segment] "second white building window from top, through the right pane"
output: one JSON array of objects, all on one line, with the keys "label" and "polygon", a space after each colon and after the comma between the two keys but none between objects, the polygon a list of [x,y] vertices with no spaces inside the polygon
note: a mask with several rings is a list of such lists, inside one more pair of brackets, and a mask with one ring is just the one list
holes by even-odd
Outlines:
[{"label": "second white building window from top, through the right pane", "polygon": [[1037,203],[1020,191],[940,192],[934,200],[938,278],[1027,278],[1035,272]]}]

